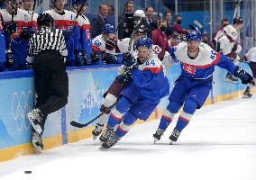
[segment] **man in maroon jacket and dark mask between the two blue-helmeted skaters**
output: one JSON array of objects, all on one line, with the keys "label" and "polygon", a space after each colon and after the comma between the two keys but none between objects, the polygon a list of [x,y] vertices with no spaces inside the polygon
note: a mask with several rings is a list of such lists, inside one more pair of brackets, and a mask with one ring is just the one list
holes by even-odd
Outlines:
[{"label": "man in maroon jacket and dark mask between the two blue-helmeted skaters", "polygon": [[169,51],[168,37],[165,34],[167,22],[160,20],[158,29],[152,31],[152,42],[154,45],[158,45],[161,48],[159,53],[160,60],[163,60],[165,51]]}]

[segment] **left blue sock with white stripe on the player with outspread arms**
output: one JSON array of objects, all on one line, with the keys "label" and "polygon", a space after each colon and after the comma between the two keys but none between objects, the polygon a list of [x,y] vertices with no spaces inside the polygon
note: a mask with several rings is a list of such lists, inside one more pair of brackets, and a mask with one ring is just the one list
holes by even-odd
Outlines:
[{"label": "left blue sock with white stripe on the player with outspread arms", "polygon": [[181,103],[169,102],[167,110],[162,114],[160,119],[160,130],[166,130],[168,128],[169,123],[173,120],[175,113],[178,112],[181,106]]}]

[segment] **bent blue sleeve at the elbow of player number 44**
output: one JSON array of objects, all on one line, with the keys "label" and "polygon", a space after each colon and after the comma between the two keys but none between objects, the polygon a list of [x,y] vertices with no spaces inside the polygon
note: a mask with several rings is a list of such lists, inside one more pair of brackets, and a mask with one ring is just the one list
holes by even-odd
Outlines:
[{"label": "bent blue sleeve at the elbow of player number 44", "polygon": [[141,71],[139,68],[135,68],[132,71],[133,74],[133,82],[135,85],[138,85],[139,87],[144,87],[146,85],[149,85],[151,83],[151,80],[154,77],[154,74],[151,73],[150,70]]}]

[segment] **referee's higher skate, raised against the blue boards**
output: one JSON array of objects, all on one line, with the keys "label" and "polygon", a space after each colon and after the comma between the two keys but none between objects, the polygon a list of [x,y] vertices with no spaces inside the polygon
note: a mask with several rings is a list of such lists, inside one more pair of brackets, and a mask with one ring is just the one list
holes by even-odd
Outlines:
[{"label": "referee's higher skate, raised against the blue boards", "polygon": [[41,134],[42,127],[41,127],[41,120],[42,120],[42,113],[39,109],[33,109],[31,112],[27,113],[28,120],[32,124],[32,128],[38,133]]}]

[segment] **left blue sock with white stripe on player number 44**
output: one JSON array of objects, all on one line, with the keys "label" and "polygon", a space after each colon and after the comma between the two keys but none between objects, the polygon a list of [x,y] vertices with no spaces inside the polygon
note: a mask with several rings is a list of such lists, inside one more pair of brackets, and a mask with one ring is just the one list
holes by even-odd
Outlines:
[{"label": "left blue sock with white stripe on player number 44", "polygon": [[110,113],[107,128],[114,129],[114,127],[123,120],[123,113],[127,112],[130,106],[130,101],[126,97],[122,97],[118,103],[116,103],[114,110]]}]

